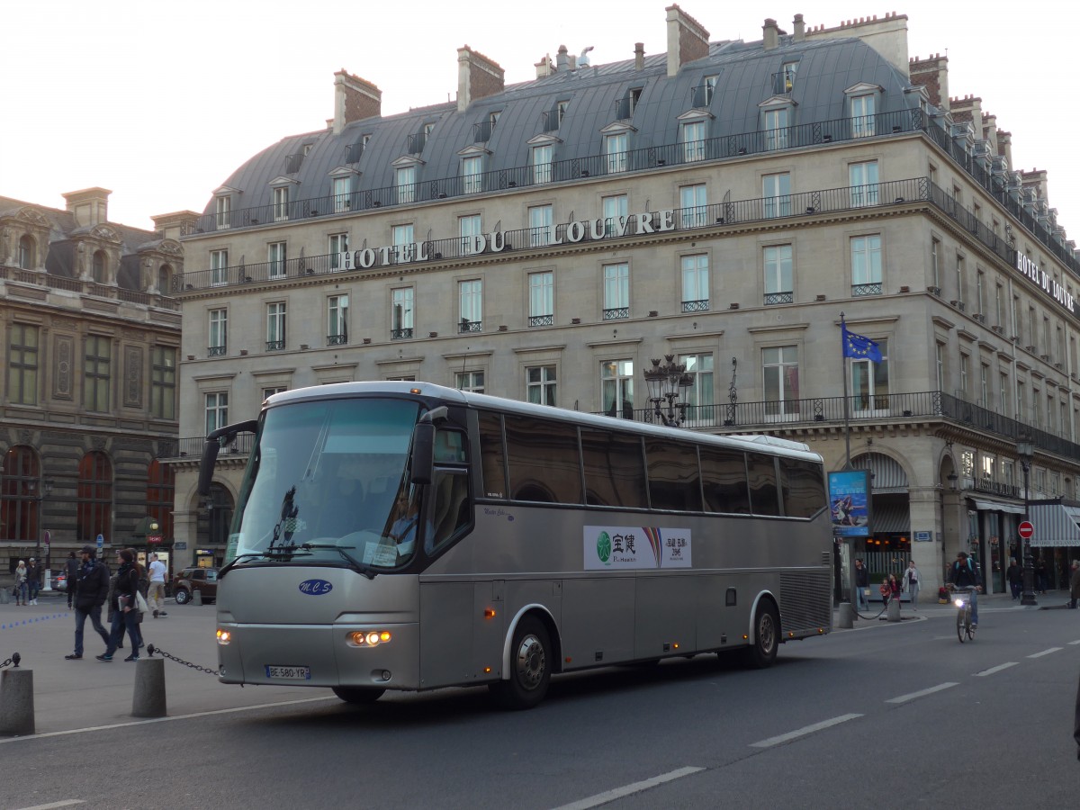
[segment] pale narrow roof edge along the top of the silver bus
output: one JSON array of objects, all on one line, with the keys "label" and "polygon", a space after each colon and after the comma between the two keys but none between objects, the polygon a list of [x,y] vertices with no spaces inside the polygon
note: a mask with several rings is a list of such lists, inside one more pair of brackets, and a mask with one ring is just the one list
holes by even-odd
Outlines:
[{"label": "pale narrow roof edge along the top of the silver bus", "polygon": [[420,397],[434,397],[446,403],[456,403],[467,407],[498,410],[517,416],[532,416],[544,419],[558,419],[573,422],[575,424],[588,426],[591,428],[611,429],[618,428],[630,433],[640,433],[644,435],[654,435],[664,438],[675,436],[687,438],[701,444],[712,444],[721,447],[739,447],[744,450],[766,451],[779,456],[792,456],[801,458],[813,458],[820,460],[821,456],[813,453],[809,445],[802,442],[793,442],[779,436],[771,436],[764,433],[750,435],[715,435],[698,431],[688,431],[683,428],[667,428],[648,422],[637,422],[631,419],[613,419],[609,416],[586,414],[580,410],[569,410],[567,408],[552,405],[535,405],[519,400],[505,400],[501,396],[490,394],[477,394],[468,391],[460,391],[456,388],[436,386],[433,382],[419,382],[411,380],[378,380],[372,382],[335,382],[326,386],[312,386],[310,388],[298,388],[291,391],[283,391],[273,394],[266,400],[264,407],[275,407],[287,403],[349,397],[357,394],[402,394]]}]

